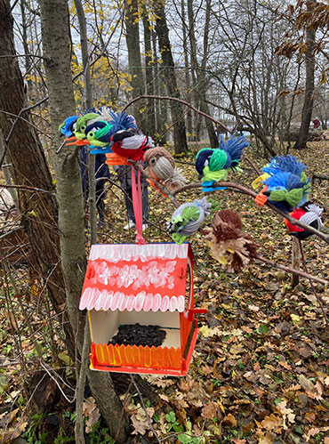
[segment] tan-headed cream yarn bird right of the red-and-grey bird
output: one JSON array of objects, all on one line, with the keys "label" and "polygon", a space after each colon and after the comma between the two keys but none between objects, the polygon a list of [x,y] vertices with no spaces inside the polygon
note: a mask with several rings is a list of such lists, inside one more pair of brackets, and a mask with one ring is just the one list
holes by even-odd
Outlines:
[{"label": "tan-headed cream yarn bird right of the red-and-grey bird", "polygon": [[189,182],[181,174],[181,168],[176,168],[173,156],[162,147],[148,149],[144,161],[147,163],[146,172],[169,191],[178,190]]}]

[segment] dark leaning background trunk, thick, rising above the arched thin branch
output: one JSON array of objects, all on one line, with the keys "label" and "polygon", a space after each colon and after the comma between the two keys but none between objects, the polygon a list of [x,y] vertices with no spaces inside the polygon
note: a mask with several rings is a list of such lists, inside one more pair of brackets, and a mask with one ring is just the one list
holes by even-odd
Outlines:
[{"label": "dark leaning background trunk, thick, rising above the arched thin branch", "polygon": [[[165,20],[164,2],[154,2],[156,13],[156,35],[158,38],[159,50],[163,61],[164,81],[168,93],[172,97],[180,98],[180,91],[177,86],[173,54],[169,40],[169,29]],[[172,101],[171,111],[173,119],[173,144],[176,154],[180,154],[188,149],[186,140],[185,120],[181,103]]]}]

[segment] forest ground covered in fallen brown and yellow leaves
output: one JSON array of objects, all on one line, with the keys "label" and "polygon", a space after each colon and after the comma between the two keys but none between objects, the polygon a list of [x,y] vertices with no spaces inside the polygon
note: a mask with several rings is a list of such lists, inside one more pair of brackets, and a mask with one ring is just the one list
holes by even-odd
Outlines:
[{"label": "forest ground covered in fallen brown and yellow leaves", "polygon": [[[251,149],[246,154],[254,158]],[[308,165],[309,170],[328,174],[329,142],[313,142],[309,149],[290,154]],[[188,157],[181,160],[193,162]],[[255,163],[261,167],[266,162],[255,160]],[[195,182],[193,165],[181,166],[189,180]],[[251,188],[255,174],[249,168],[245,165],[245,173],[238,174],[236,181]],[[178,199],[183,203],[200,197],[201,191],[197,190],[183,193]],[[122,204],[113,205],[122,200],[114,187],[108,191],[107,217],[99,233],[100,243],[133,242],[134,233],[127,235],[123,230],[126,221]],[[231,190],[217,191],[209,200],[213,204],[212,213],[229,208],[240,215],[243,229],[253,236],[260,254],[291,266],[292,238],[279,215]],[[329,225],[328,181],[314,184],[312,200],[326,208],[324,222]],[[169,221],[173,206],[154,190],[149,201],[151,215],[146,241],[170,241],[165,221]],[[210,216],[207,222],[211,220]],[[137,393],[122,395],[132,419],[132,434],[136,435],[133,442],[329,444],[329,328],[309,281],[300,279],[300,284],[292,288],[288,273],[262,262],[253,263],[241,274],[228,273],[219,262],[213,261],[200,233],[190,238],[190,242],[197,259],[196,306],[207,308],[208,312],[197,318],[199,335],[186,377],[143,376],[156,392],[156,397],[144,402],[157,439]],[[303,242],[303,251],[309,273],[329,279],[325,242],[309,238]],[[314,287],[328,313],[328,288],[317,283]],[[14,368],[17,343],[8,334],[8,310],[4,305],[0,310],[1,359],[8,368]],[[28,346],[27,350],[31,352]],[[33,368],[32,358],[29,368]],[[65,355],[61,359],[65,362]],[[52,358],[48,356],[45,360],[51,363]],[[15,370],[11,371],[15,375]],[[26,393],[21,392],[20,378],[14,378],[8,371],[1,373],[0,428],[7,424],[10,430],[14,424],[16,428],[21,424],[17,418],[22,411],[27,416]],[[9,407],[13,399],[12,414],[3,406]],[[72,411],[68,408],[65,412],[67,423],[73,419]],[[96,408],[89,411],[92,416]],[[96,421],[97,415],[93,416]],[[40,440],[40,435],[37,440],[31,439],[36,437],[36,431],[31,431],[28,420],[24,419],[23,424],[28,442],[51,442]],[[96,424],[99,429],[91,432],[89,442],[114,442],[107,429],[100,429],[99,422]],[[53,442],[68,440],[68,432],[62,431],[62,439]]]}]

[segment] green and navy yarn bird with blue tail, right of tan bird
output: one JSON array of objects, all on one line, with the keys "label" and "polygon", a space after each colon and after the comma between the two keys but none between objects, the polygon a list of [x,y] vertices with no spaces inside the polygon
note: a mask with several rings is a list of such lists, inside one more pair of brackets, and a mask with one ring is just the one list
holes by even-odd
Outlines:
[{"label": "green and navy yarn bird with blue tail, right of tan bird", "polygon": [[216,149],[200,149],[196,158],[196,169],[202,179],[203,191],[222,190],[213,188],[214,182],[226,181],[229,172],[242,171],[239,168],[241,156],[249,142],[245,136],[229,138],[225,143],[221,136],[220,146]]}]

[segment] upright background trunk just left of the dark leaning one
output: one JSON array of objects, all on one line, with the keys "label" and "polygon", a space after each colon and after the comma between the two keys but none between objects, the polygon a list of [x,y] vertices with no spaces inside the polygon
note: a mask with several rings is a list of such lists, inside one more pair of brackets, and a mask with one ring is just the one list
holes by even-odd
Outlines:
[{"label": "upright background trunk just left of the dark leaning one", "polygon": [[[129,73],[132,77],[132,98],[142,95],[145,90],[143,72],[140,59],[140,25],[138,19],[138,0],[129,0],[125,4],[125,41],[128,49]],[[144,117],[144,101],[136,101],[133,104],[133,116],[140,129],[147,133],[147,122]]]}]

